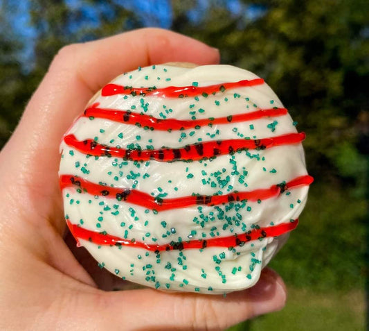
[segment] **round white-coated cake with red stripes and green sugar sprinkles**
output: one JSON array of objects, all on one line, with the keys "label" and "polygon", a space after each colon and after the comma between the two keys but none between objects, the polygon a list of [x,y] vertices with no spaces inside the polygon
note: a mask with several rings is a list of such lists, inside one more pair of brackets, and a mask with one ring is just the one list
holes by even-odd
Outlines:
[{"label": "round white-coated cake with red stripes and green sugar sprinkles", "polygon": [[312,183],[295,126],[264,80],[236,67],[118,76],[61,144],[69,229],[125,280],[204,294],[251,287]]}]

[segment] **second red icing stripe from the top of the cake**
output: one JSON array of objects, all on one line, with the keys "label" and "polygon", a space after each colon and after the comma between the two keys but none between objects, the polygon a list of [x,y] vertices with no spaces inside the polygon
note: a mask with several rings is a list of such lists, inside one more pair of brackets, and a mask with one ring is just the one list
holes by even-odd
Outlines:
[{"label": "second red icing stripe from the top of the cake", "polygon": [[108,108],[87,108],[84,110],[84,117],[98,117],[110,119],[119,123],[136,125],[150,130],[186,130],[189,128],[200,128],[201,126],[213,126],[216,124],[228,124],[242,121],[261,119],[262,117],[277,117],[287,114],[286,108],[271,108],[256,110],[246,114],[235,114],[227,117],[210,119],[179,120],[179,119],[158,119],[147,114],[138,114],[129,110],[115,110]]}]

